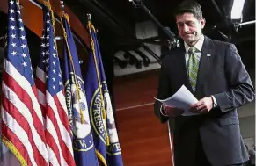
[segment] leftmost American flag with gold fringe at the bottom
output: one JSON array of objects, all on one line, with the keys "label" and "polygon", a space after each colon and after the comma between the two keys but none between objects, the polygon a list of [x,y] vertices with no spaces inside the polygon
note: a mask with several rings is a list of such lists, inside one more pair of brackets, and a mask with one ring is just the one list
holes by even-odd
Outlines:
[{"label": "leftmost American flag with gold fringe at the bottom", "polygon": [[17,0],[9,0],[2,82],[2,137],[22,165],[48,165],[43,119]]}]

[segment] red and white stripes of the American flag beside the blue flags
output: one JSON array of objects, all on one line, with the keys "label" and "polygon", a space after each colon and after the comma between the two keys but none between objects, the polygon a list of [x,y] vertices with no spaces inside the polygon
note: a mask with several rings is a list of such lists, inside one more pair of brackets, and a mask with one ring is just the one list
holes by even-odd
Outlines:
[{"label": "red and white stripes of the American flag beside the blue flags", "polygon": [[46,87],[45,72],[38,67],[36,76],[40,106],[46,115],[49,161],[56,166],[75,166],[69,116],[63,91],[52,97]]}]

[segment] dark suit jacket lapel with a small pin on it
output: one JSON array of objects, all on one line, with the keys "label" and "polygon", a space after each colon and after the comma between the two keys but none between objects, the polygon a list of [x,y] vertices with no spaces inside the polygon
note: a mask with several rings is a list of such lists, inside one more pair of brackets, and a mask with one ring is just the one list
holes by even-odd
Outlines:
[{"label": "dark suit jacket lapel with a small pin on it", "polygon": [[205,83],[205,78],[208,73],[208,69],[211,66],[211,60],[215,54],[214,45],[212,40],[208,39],[208,37],[204,37],[204,42],[201,49],[201,60],[199,65],[199,70],[197,74],[197,82],[195,93],[201,89],[201,85]]}]

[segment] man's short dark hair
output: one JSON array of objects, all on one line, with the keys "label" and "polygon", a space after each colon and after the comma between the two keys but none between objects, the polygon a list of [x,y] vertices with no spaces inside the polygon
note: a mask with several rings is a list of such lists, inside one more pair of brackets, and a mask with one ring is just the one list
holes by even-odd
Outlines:
[{"label": "man's short dark hair", "polygon": [[174,16],[184,14],[186,12],[194,14],[194,18],[202,18],[201,5],[194,0],[185,0],[179,4],[176,11],[174,11]]}]

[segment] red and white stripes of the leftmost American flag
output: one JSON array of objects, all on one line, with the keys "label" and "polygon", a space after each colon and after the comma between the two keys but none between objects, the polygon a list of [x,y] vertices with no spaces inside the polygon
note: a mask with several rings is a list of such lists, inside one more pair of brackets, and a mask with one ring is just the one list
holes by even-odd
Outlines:
[{"label": "red and white stripes of the leftmost American flag", "polygon": [[36,88],[4,58],[2,134],[28,165],[48,165],[48,150]]}]

